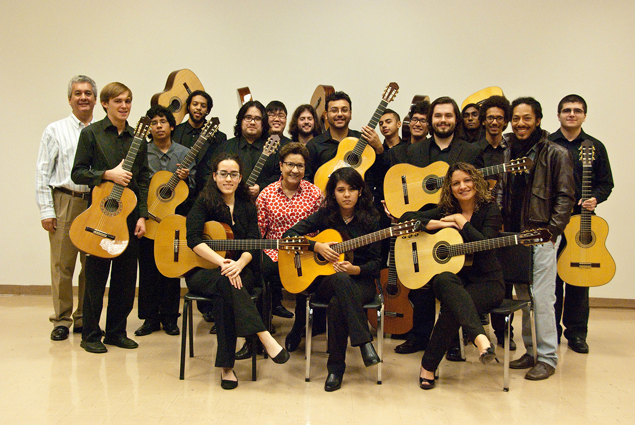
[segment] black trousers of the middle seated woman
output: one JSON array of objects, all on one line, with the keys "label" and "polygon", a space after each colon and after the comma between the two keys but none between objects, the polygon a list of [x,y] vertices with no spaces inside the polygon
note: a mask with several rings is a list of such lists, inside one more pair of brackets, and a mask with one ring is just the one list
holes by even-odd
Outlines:
[{"label": "black trousers of the middle seated woman", "polygon": [[375,298],[374,282],[355,279],[340,271],[316,279],[308,291],[315,292],[316,301],[328,303],[328,361],[330,374],[344,374],[349,336],[351,346],[373,341],[363,306]]}]

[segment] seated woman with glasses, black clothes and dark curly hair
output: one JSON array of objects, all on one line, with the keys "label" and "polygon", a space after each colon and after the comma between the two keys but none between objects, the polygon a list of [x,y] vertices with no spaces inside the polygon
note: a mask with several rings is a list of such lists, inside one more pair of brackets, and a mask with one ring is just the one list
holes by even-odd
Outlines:
[{"label": "seated woman with glasses, black clothes and dark curly hair", "polygon": [[206,221],[226,223],[234,239],[260,239],[256,207],[243,183],[241,162],[232,154],[221,154],[214,171],[187,215],[187,245],[204,259],[218,266],[210,270],[195,268],[185,277],[187,288],[199,295],[213,297],[217,327],[216,367],[222,368],[220,386],[233,389],[238,385],[234,373],[237,336],[256,334],[276,363],[289,360],[288,351],[266,330],[249,291],[258,280],[260,270],[251,261],[257,251],[233,251],[223,258],[205,244]]}]

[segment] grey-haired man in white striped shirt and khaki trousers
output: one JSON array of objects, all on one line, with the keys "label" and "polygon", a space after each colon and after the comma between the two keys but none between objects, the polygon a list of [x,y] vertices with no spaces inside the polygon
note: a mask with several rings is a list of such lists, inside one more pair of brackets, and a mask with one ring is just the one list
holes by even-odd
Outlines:
[{"label": "grey-haired man in white striped shirt and khaki trousers", "polygon": [[[95,81],[86,75],[76,75],[69,82],[69,105],[72,114],[49,124],[42,134],[36,169],[36,201],[40,209],[42,227],[48,232],[51,244],[51,293],[53,323],[51,339],[62,341],[73,332],[82,331],[84,298],[84,263],[86,255],[70,242],[72,221],[86,209],[90,190],[70,180],[77,140],[81,130],[93,122],[93,108],[97,101]],[[73,312],[73,273],[80,254],[77,309]]]}]

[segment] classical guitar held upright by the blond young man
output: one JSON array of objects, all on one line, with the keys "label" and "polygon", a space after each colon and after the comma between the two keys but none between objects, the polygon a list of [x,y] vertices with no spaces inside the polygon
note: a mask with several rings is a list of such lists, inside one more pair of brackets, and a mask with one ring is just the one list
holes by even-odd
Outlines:
[{"label": "classical guitar held upright by the blond young man", "polygon": [[[150,129],[150,119],[137,122],[135,136],[123,169],[132,170],[141,143]],[[70,240],[80,251],[102,258],[114,258],[128,246],[126,219],[137,206],[137,195],[130,188],[104,181],[93,188],[90,208],[79,214],[70,225]]]}]

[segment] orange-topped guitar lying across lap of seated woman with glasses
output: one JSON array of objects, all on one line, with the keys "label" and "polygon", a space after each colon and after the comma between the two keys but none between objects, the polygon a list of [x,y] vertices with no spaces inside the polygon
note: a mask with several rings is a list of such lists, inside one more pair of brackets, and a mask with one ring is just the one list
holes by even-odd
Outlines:
[{"label": "orange-topped guitar lying across lap of seated woman with glasses", "polygon": [[[216,268],[214,263],[198,256],[187,246],[185,217],[167,216],[157,228],[154,237],[154,258],[159,271],[166,277],[179,277],[194,267]],[[222,257],[227,251],[248,249],[279,249],[281,251],[305,251],[309,242],[303,237],[286,239],[234,240],[229,225],[208,221],[203,230],[205,243]]]}]

